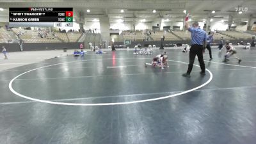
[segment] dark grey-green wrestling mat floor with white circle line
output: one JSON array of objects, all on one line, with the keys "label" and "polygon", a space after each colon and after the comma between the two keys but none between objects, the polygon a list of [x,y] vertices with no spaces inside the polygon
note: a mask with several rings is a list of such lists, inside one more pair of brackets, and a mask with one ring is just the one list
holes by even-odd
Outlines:
[{"label": "dark grey-green wrestling mat floor with white circle line", "polygon": [[223,63],[216,47],[209,61],[206,51],[209,71],[200,76],[195,60],[190,78],[181,76],[189,53],[166,51],[164,70],[145,67],[156,50],[88,52],[0,72],[0,143],[255,143],[255,48],[237,47],[240,65]]}]

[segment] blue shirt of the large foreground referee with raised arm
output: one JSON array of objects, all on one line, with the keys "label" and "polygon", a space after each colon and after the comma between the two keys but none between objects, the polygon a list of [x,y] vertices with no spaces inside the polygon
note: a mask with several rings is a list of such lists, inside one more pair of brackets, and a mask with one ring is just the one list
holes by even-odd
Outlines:
[{"label": "blue shirt of the large foreground referee with raised arm", "polygon": [[203,29],[190,27],[188,31],[191,32],[191,44],[192,45],[203,45],[207,39],[207,34]]}]

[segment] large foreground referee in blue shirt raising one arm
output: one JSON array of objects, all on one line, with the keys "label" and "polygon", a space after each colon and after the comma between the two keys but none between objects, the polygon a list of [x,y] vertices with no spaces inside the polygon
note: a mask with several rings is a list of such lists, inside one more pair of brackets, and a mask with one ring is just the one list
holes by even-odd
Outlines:
[{"label": "large foreground referee in blue shirt raising one arm", "polygon": [[191,32],[191,48],[189,51],[188,71],[185,74],[182,74],[182,76],[190,77],[190,72],[193,68],[195,56],[197,56],[198,61],[200,63],[201,70],[202,70],[200,72],[200,74],[202,76],[205,76],[205,65],[204,65],[204,59],[203,59],[203,51],[207,44],[206,43],[207,33],[205,33],[204,30],[199,28],[198,22],[194,22],[192,27],[189,26],[188,16],[189,16],[189,13],[185,19],[185,27],[186,27],[186,29],[188,29],[188,31]]}]

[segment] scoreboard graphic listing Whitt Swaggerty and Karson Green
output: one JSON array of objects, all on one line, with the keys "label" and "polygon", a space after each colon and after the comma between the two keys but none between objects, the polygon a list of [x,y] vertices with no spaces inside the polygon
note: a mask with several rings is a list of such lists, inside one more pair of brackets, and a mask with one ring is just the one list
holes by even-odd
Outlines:
[{"label": "scoreboard graphic listing Whitt Swaggerty and Karson Green", "polygon": [[73,8],[9,8],[10,26],[72,27]]}]

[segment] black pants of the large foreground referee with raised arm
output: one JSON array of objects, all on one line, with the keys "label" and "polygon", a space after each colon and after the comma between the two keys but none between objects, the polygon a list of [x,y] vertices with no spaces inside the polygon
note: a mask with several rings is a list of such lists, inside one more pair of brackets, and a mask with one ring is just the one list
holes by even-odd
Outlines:
[{"label": "black pants of the large foreground referee with raised arm", "polygon": [[203,45],[191,45],[190,51],[189,51],[189,65],[188,65],[188,71],[187,73],[190,74],[193,68],[193,64],[195,61],[195,57],[197,56],[198,61],[200,63],[200,67],[202,72],[205,72],[205,65],[204,65],[204,59],[203,59]]}]

